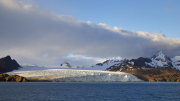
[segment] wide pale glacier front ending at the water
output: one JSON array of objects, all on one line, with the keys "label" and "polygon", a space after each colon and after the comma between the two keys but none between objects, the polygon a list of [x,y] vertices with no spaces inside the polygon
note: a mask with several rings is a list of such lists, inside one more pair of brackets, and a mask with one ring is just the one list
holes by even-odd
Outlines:
[{"label": "wide pale glacier front ending at the water", "polygon": [[7,74],[17,74],[32,81],[51,82],[136,82],[141,81],[132,74],[100,70],[22,68]]}]

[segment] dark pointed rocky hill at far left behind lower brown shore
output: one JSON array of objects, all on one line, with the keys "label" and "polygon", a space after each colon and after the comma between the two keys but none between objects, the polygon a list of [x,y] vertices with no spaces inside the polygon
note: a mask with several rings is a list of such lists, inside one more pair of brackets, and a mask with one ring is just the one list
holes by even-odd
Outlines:
[{"label": "dark pointed rocky hill at far left behind lower brown shore", "polygon": [[1,73],[10,72],[19,68],[21,68],[21,66],[16,62],[16,60],[12,60],[10,56],[6,56],[0,59]]}]

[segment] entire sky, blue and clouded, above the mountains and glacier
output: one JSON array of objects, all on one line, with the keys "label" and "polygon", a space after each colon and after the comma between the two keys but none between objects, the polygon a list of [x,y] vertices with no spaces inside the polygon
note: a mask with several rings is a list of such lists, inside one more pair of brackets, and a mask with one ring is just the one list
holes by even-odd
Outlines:
[{"label": "entire sky, blue and clouded, above the mountains and glacier", "polygon": [[180,55],[179,0],[0,0],[0,57],[92,66]]}]

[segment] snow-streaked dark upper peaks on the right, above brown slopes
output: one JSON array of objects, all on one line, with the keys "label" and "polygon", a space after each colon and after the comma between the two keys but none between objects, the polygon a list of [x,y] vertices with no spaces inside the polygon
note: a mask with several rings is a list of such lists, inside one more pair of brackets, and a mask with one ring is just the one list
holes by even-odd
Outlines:
[{"label": "snow-streaked dark upper peaks on the right, above brown slopes", "polygon": [[[121,60],[121,61],[105,61],[98,63],[93,67],[104,67],[104,70],[115,69],[116,67],[127,68],[130,66],[138,68],[157,68],[157,67],[171,67],[180,70],[180,56],[170,58],[166,56],[162,51],[157,52],[156,55],[151,58],[139,57],[138,59]],[[107,69],[108,68],[108,69]],[[111,68],[111,69],[110,69]]]}]

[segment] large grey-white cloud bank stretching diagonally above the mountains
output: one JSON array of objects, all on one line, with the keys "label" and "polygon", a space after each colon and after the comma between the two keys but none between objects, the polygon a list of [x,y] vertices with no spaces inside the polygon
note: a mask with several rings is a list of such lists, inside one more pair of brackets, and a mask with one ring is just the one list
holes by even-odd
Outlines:
[{"label": "large grey-white cloud bank stretching diagonally above the mountains", "polygon": [[66,60],[90,65],[98,60],[66,56],[137,58],[159,50],[168,56],[180,55],[180,39],[79,21],[33,4],[0,0],[0,57],[11,55],[20,64],[52,65]]}]

